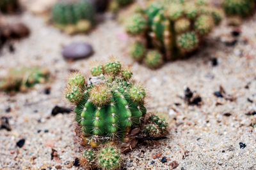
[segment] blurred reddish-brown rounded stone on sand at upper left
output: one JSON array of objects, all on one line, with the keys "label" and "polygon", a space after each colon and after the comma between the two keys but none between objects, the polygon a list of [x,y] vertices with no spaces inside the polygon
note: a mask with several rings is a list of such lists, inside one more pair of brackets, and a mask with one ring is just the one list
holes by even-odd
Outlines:
[{"label": "blurred reddish-brown rounded stone on sand at upper left", "polygon": [[29,28],[22,23],[12,24],[10,29],[12,30],[12,36],[15,38],[24,38],[30,33]]}]

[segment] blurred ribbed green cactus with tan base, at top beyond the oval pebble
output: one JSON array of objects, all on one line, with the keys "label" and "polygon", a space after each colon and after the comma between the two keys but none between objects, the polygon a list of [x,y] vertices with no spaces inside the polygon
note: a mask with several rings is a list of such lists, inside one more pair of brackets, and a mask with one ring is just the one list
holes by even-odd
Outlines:
[{"label": "blurred ribbed green cactus with tan base, at top beyond the oval pebble", "polygon": [[52,7],[54,25],[68,34],[89,31],[94,15],[93,4],[88,0],[60,1]]}]

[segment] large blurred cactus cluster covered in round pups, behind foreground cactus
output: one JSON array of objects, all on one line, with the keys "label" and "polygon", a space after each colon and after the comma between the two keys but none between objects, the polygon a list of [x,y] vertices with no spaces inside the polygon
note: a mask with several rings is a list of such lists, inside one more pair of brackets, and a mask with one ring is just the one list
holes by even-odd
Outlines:
[{"label": "large blurred cactus cluster covered in round pups, behind foreground cactus", "polygon": [[198,48],[222,17],[223,12],[205,0],[150,3],[125,21],[126,32],[136,36],[131,56],[152,68],[183,57]]}]

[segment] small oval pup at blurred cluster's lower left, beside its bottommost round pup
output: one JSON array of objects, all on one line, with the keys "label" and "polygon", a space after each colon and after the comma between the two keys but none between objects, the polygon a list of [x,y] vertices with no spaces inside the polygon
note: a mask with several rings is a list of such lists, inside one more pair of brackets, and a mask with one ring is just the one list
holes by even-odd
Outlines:
[{"label": "small oval pup at blurred cluster's lower left, beside its bottommost round pup", "polygon": [[139,41],[136,41],[132,44],[130,54],[133,59],[135,60],[142,60],[146,52],[145,46],[140,43]]}]

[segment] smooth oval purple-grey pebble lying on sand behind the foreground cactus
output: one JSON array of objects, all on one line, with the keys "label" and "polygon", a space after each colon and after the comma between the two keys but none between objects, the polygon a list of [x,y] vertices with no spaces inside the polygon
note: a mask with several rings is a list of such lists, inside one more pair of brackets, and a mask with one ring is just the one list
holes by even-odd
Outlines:
[{"label": "smooth oval purple-grey pebble lying on sand behind the foreground cactus", "polygon": [[88,43],[71,43],[63,48],[62,55],[65,59],[83,59],[93,53],[93,48]]}]

